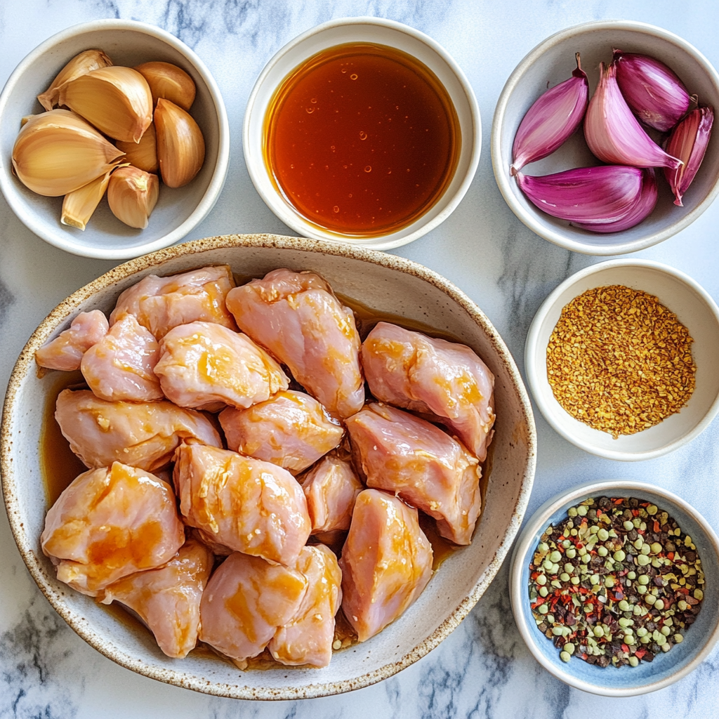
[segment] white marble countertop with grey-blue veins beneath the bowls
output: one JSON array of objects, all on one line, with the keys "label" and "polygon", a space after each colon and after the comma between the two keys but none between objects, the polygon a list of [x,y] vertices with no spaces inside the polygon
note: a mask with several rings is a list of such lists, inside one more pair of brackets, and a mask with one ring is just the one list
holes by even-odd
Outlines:
[{"label": "white marble countertop with grey-blue veins beneath the bowls", "polygon": [[[516,219],[493,177],[489,135],[495,103],[521,58],[563,27],[634,19],[665,27],[719,67],[719,9],[712,0],[1,0],[0,83],[55,32],[90,19],[155,23],[198,52],[214,74],[232,132],[229,175],[209,217],[186,239],[230,232],[293,234],[252,187],[241,125],[265,62],[298,33],[333,17],[381,15],[434,37],[477,93],[484,144],[477,176],[457,211],[397,254],[421,262],[467,292],[498,328],[522,367],[533,313],[559,282],[600,258],[554,247]],[[719,299],[719,202],[695,224],[639,252],[678,267]],[[42,318],[73,290],[115,264],[65,254],[38,239],[0,197],[0,387]],[[654,482],[696,505],[719,529],[719,422],[674,454],[623,464],[564,441],[536,414],[539,457],[528,513],[564,487],[605,477]],[[240,702],[140,677],[98,654],[50,607],[27,573],[0,512],[0,718],[173,719],[257,717],[532,717],[679,715],[719,717],[719,647],[689,677],[654,695],[612,700],[569,689],[541,669],[510,612],[507,569],[462,625],[395,677],[358,692],[298,702]],[[621,702],[621,703],[620,703]]]}]

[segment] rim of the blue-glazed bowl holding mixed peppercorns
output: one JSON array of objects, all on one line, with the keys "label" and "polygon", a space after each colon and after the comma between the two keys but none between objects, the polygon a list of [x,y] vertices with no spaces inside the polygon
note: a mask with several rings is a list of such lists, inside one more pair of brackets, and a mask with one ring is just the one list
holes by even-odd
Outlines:
[{"label": "rim of the blue-glazed bowl holding mixed peppercorns", "polygon": [[[640,686],[628,687],[626,689],[615,689],[613,687],[600,686],[599,684],[590,684],[590,682],[582,681],[582,679],[577,679],[577,677],[572,676],[569,672],[565,672],[556,664],[551,664],[551,662],[546,660],[544,654],[539,651],[536,645],[536,634],[530,631],[527,613],[525,611],[525,608],[528,607],[527,587],[522,585],[521,582],[522,567],[527,560],[528,552],[533,549],[532,544],[535,541],[534,537],[536,533],[546,526],[546,522],[549,521],[549,518],[561,509],[562,505],[574,500],[581,501],[587,497],[614,493],[615,490],[620,490],[624,495],[627,495],[627,493],[637,493],[641,495],[643,492],[651,492],[667,500],[667,503],[677,505],[684,510],[687,515],[694,518],[696,523],[705,532],[715,554],[719,554],[719,538],[715,531],[705,518],[681,497],[662,487],[649,484],[649,482],[636,482],[634,480],[593,480],[592,482],[585,482],[584,484],[572,487],[552,497],[541,505],[541,507],[533,513],[531,518],[529,518],[512,551],[509,569],[509,597],[519,633],[529,651],[533,654],[534,659],[539,661],[539,664],[541,664],[544,669],[554,674],[557,679],[561,679],[565,684],[569,684],[570,687],[575,687],[584,692],[590,692],[591,694],[597,694],[603,697],[633,697],[664,689],[664,687],[668,687],[669,684],[674,684],[674,682],[678,682],[679,679],[693,672],[694,669],[706,659],[719,640],[719,623],[716,624],[710,636],[707,636],[704,645],[697,651],[694,659],[687,662],[685,667],[679,669],[679,671],[666,679],[660,679],[656,682],[649,682],[649,684],[641,684]],[[531,613],[529,616],[531,617]]]}]

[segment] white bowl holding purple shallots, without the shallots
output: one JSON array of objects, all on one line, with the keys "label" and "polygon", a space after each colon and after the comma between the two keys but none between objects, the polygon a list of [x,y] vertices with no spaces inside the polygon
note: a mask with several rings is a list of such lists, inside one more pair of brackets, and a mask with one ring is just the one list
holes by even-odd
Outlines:
[{"label": "white bowl holding purple shallots, without the shallots", "polygon": [[[684,207],[673,204],[674,196],[664,173],[658,171],[659,201],[654,212],[631,229],[596,234],[569,226],[564,220],[537,209],[510,177],[514,136],[526,111],[549,87],[567,80],[576,67],[574,53],[582,55],[582,68],[589,77],[590,93],[599,80],[599,63],[610,63],[612,48],[652,55],[669,65],[690,93],[702,104],[719,107],[719,75],[699,50],[672,32],[625,20],[601,20],[569,27],[537,45],[515,68],[504,86],[492,125],[492,164],[495,178],[513,213],[532,232],[559,247],[585,255],[621,255],[636,252],[677,234],[692,224],[719,192],[719,140],[710,141],[704,162],[684,196]],[[544,160],[526,165],[527,175],[549,175],[560,170],[600,165],[586,145],[582,129]]]}]

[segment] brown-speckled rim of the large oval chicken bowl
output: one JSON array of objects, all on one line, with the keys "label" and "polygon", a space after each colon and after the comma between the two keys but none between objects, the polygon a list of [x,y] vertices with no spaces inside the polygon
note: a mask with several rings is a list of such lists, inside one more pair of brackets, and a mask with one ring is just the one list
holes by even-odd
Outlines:
[{"label": "brown-speckled rim of the large oval chicken bowl", "polygon": [[[129,276],[141,270],[147,270],[150,267],[158,265],[167,260],[173,260],[176,257],[193,255],[196,252],[203,252],[210,249],[223,249],[229,247],[270,247],[275,249],[295,249],[303,252],[318,252],[324,255],[335,255],[338,257],[349,257],[352,260],[362,260],[370,262],[373,265],[387,267],[390,270],[396,270],[401,273],[413,275],[416,278],[425,280],[427,283],[434,285],[442,292],[456,302],[473,321],[485,332],[487,339],[493,344],[500,361],[503,362],[508,370],[513,384],[516,388],[518,398],[521,403],[521,415],[527,429],[527,460],[525,470],[521,482],[521,490],[513,509],[512,518],[495,551],[492,561],[487,565],[487,569],[477,581],[472,591],[464,597],[461,603],[452,610],[449,616],[444,620],[436,630],[431,633],[424,641],[421,641],[412,651],[402,657],[399,661],[385,664],[384,667],[375,669],[372,672],[356,677],[355,679],[347,679],[342,682],[328,682],[318,684],[308,684],[304,687],[281,687],[279,689],[268,689],[262,687],[239,687],[232,684],[224,684],[221,682],[208,682],[201,679],[196,674],[187,674],[175,670],[162,669],[160,667],[145,664],[138,661],[132,656],[118,651],[114,647],[104,646],[98,636],[88,626],[85,620],[78,613],[70,610],[54,587],[46,582],[45,577],[40,570],[40,562],[35,551],[33,551],[33,542],[29,539],[22,525],[22,518],[17,507],[17,498],[15,496],[17,478],[14,476],[12,467],[12,434],[10,432],[9,417],[12,416],[19,408],[16,405],[16,397],[22,387],[24,378],[29,373],[35,372],[35,350],[38,349],[50,336],[50,333],[65,319],[70,316],[78,308],[78,304],[90,298],[99,290],[102,290],[119,280],[124,280]],[[0,427],[0,470],[1,484],[5,500],[7,515],[10,521],[10,527],[17,543],[22,559],[27,565],[32,578],[40,587],[50,604],[55,608],[58,614],[70,625],[73,630],[78,633],[90,646],[104,654],[108,659],[115,661],[122,667],[132,669],[137,674],[142,674],[150,679],[157,679],[166,684],[175,684],[178,687],[185,687],[204,694],[215,695],[219,697],[230,697],[234,699],[260,699],[260,700],[292,700],[305,699],[313,697],[323,697],[328,695],[341,694],[351,690],[368,687],[370,684],[380,682],[393,676],[410,664],[428,654],[434,649],[444,638],[454,631],[464,617],[470,612],[472,607],[477,603],[480,597],[487,590],[490,582],[494,579],[499,571],[505,557],[507,556],[510,546],[519,531],[524,513],[527,508],[529,495],[534,479],[534,470],[536,467],[536,429],[534,426],[534,418],[532,415],[531,403],[528,394],[524,388],[524,384],[510,354],[504,340],[500,337],[498,331],[493,324],[487,319],[485,313],[480,310],[470,298],[459,290],[455,285],[444,279],[441,275],[429,270],[427,267],[418,265],[416,262],[406,260],[403,257],[395,257],[394,255],[386,255],[363,247],[356,247],[349,244],[340,244],[336,242],[326,242],[323,240],[306,239],[298,237],[283,237],[274,234],[246,234],[246,235],[224,235],[220,237],[208,237],[205,239],[197,239],[193,242],[175,245],[167,249],[153,252],[151,255],[138,257],[135,260],[125,262],[108,273],[101,275],[93,282],[85,285],[77,290],[67,299],[55,307],[52,312],[40,323],[40,326],[32,333],[27,344],[22,349],[17,363],[12,371],[10,381],[5,395],[5,403],[3,407],[2,425]]]}]

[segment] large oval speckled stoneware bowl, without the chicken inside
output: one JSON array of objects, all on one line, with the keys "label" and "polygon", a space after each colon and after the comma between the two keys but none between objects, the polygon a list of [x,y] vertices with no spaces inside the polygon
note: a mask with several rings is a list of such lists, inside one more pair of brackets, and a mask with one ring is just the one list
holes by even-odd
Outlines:
[{"label": "large oval speckled stoneware bowl, without the chicken inside", "polygon": [[[57,372],[40,377],[33,354],[81,311],[109,313],[122,290],[145,275],[170,275],[227,263],[237,275],[277,267],[314,270],[337,293],[379,313],[421,321],[462,339],[494,372],[498,420],[486,510],[472,544],[455,551],[418,601],[364,644],[334,654],[324,669],[240,672],[194,656],[169,659],[146,631],[55,579],[40,550],[47,503],[39,445]],[[53,376],[55,375],[55,376]],[[30,574],[53,607],[88,644],[123,667],[162,682],[224,697],[296,699],[347,692],[390,677],[434,649],[493,580],[519,529],[531,491],[536,434],[531,406],[503,340],[470,298],[436,273],[400,257],[347,244],[272,235],[230,235],[188,242],[116,267],[56,307],[30,337],[8,386],[1,429],[2,488],[10,525]]]}]

